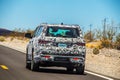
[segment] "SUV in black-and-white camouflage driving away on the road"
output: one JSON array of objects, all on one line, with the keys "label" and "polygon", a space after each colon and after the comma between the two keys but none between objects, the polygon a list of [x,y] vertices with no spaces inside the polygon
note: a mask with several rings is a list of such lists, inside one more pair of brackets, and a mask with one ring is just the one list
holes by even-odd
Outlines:
[{"label": "SUV in black-and-white camouflage driving away on the road", "polygon": [[84,73],[85,41],[79,25],[41,24],[31,38],[26,49],[26,68],[37,71],[40,67],[66,67]]}]

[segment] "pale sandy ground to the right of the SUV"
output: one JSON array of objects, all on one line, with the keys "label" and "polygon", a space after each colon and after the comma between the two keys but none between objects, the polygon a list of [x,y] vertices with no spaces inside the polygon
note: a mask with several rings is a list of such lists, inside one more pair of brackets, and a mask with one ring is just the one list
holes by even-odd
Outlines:
[{"label": "pale sandy ground to the right of the SUV", "polygon": [[92,49],[87,48],[86,69],[120,79],[120,51],[104,48],[94,55]]}]

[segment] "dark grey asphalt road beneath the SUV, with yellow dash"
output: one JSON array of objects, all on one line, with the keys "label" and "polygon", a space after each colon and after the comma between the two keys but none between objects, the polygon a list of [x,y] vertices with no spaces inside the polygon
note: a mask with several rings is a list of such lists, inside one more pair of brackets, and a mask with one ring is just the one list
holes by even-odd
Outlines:
[{"label": "dark grey asphalt road beneath the SUV, with yellow dash", "polygon": [[0,80],[106,80],[88,73],[77,75],[62,68],[40,68],[33,72],[25,68],[25,54],[0,46]]}]

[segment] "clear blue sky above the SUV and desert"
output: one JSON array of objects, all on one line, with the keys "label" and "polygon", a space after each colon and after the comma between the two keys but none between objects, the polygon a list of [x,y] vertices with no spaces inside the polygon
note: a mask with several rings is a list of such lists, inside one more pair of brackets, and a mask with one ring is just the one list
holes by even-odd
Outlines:
[{"label": "clear blue sky above the SUV and desert", "polygon": [[35,29],[40,23],[101,28],[102,20],[120,23],[120,0],[0,0],[0,28]]}]

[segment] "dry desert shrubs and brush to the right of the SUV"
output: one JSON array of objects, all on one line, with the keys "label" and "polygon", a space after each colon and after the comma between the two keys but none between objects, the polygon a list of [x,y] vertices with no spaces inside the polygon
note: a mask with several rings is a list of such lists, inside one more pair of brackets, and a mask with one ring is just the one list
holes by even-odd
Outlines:
[{"label": "dry desert shrubs and brush to the right of the SUV", "polygon": [[84,38],[86,40],[86,46],[89,48],[108,48],[120,50],[120,25],[106,23],[104,19],[101,29],[94,29],[85,32]]}]

